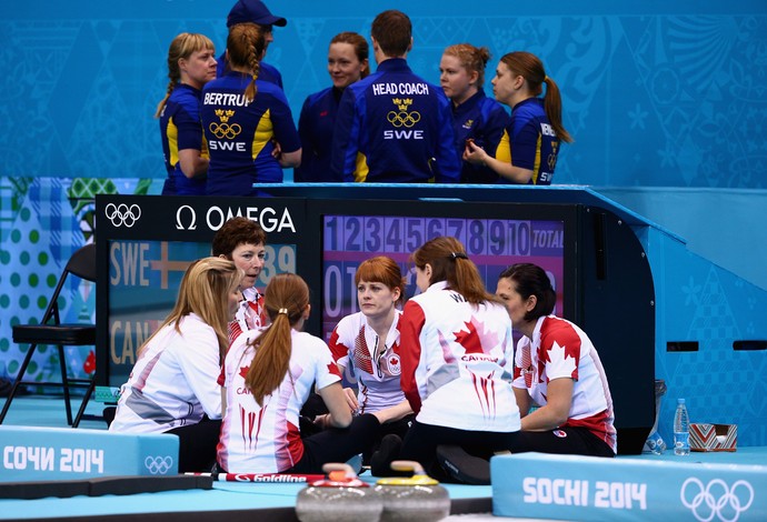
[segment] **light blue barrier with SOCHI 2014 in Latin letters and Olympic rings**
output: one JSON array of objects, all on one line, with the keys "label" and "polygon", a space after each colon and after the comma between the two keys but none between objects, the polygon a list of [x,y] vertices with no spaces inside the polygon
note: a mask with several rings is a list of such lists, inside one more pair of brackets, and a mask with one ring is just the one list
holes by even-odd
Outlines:
[{"label": "light blue barrier with SOCHI 2014 in Latin letters and Olympic rings", "polygon": [[494,456],[492,513],[580,521],[767,520],[767,466],[520,453]]}]

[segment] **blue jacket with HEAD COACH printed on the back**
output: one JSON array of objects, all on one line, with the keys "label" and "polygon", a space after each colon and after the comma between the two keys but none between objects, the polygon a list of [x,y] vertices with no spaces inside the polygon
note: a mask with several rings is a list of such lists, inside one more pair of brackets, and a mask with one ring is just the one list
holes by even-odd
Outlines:
[{"label": "blue jacket with HEAD COACH printed on the back", "polygon": [[404,59],[382,61],[343,91],[331,167],[343,181],[457,183],[450,101]]}]

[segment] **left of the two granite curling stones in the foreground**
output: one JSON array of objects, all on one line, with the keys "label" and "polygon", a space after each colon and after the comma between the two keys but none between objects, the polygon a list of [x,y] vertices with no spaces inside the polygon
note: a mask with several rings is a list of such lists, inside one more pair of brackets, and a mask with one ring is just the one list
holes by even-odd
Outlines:
[{"label": "left of the two granite curling stones in the foreground", "polygon": [[380,495],[361,481],[349,464],[322,466],[327,479],[298,492],[296,515],[301,522],[376,522],[384,504]]}]

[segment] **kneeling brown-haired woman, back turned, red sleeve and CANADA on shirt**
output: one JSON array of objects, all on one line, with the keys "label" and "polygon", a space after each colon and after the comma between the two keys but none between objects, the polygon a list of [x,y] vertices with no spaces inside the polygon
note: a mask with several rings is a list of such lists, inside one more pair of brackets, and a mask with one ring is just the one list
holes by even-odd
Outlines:
[{"label": "kneeling brown-haired woman, back turned, red sleeve and CANADA on shirt", "polygon": [[395,458],[416,460],[442,480],[451,473],[437,465],[445,468],[439,448],[460,449],[488,468],[495,451],[515,442],[511,322],[456,238],[427,241],[411,261],[422,293],[402,311],[399,355],[402,391],[416,420],[401,449],[384,438],[371,468],[381,474]]}]

